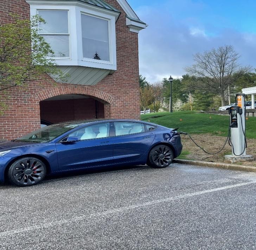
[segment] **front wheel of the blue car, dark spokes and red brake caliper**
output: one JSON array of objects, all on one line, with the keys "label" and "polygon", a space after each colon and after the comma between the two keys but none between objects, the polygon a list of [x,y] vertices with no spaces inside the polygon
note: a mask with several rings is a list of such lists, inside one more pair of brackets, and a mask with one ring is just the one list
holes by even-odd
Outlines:
[{"label": "front wheel of the blue car, dark spokes and red brake caliper", "polygon": [[44,179],[45,175],[45,164],[34,157],[20,158],[8,169],[9,181],[21,187],[37,184]]}]

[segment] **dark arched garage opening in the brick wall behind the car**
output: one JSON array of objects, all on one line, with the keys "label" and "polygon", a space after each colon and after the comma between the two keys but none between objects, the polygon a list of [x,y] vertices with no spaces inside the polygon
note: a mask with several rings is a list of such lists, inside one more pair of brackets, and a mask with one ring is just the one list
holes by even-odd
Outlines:
[{"label": "dark arched garage opening in the brick wall behind the car", "polygon": [[104,103],[87,95],[57,95],[40,101],[40,119],[45,123],[104,118]]}]

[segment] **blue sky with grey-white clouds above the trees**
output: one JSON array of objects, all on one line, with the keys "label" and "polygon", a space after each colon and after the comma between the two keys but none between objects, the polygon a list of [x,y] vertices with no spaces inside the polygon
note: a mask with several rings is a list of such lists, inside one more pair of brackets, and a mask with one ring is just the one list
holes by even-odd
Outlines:
[{"label": "blue sky with grey-white clouds above the trees", "polygon": [[256,0],[127,0],[148,27],[139,34],[140,74],[180,77],[193,54],[232,45],[256,68]]}]

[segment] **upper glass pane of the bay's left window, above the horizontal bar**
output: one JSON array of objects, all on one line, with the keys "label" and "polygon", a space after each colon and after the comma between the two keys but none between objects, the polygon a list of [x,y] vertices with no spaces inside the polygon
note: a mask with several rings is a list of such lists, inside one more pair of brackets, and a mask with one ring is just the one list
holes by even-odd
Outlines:
[{"label": "upper glass pane of the bay's left window, above the horizontal bar", "polygon": [[68,11],[38,11],[39,16],[45,20],[40,24],[40,34],[68,34]]}]

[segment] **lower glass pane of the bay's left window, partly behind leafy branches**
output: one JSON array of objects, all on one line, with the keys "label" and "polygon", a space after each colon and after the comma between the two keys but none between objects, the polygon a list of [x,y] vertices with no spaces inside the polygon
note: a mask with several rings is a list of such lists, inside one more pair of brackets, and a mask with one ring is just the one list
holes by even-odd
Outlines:
[{"label": "lower glass pane of the bay's left window, partly behind leafy branches", "polygon": [[69,35],[43,35],[46,42],[51,45],[53,57],[69,57]]}]

